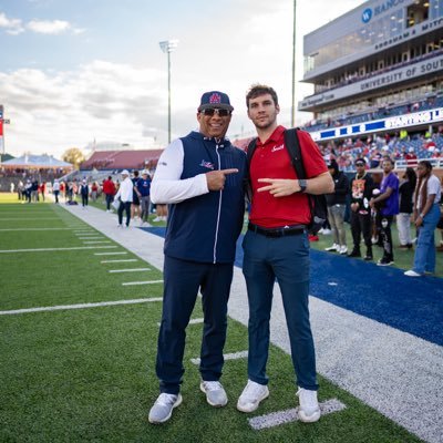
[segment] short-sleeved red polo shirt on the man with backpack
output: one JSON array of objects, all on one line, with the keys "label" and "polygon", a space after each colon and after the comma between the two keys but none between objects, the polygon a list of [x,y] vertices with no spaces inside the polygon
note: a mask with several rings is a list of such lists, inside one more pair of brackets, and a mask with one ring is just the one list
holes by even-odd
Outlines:
[{"label": "short-sleeved red polo shirt on the man with backpack", "polygon": [[[258,183],[258,178],[297,178],[285,146],[284,132],[284,126],[277,126],[265,143],[257,138],[257,147],[250,163],[253,203],[249,219],[264,228],[307,225],[310,222],[306,194],[296,193],[286,197],[274,197],[269,192],[257,193],[259,187],[266,186],[266,183]],[[324,159],[311,136],[305,131],[298,131],[298,137],[306,177],[312,178],[328,172]]]}]

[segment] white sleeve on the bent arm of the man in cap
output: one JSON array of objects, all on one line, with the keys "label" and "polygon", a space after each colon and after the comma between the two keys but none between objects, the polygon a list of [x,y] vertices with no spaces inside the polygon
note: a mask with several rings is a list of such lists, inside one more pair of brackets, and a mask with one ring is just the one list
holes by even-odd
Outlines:
[{"label": "white sleeve on the bent arm of the man in cap", "polygon": [[209,192],[206,174],[181,179],[184,155],[183,143],[179,138],[174,140],[161,155],[151,184],[153,203],[181,203]]}]

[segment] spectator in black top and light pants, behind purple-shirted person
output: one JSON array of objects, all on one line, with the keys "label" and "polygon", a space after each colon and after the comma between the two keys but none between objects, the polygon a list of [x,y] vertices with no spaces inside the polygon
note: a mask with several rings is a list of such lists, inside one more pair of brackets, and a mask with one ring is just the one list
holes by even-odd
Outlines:
[{"label": "spectator in black top and light pants, behind purple-shirted person", "polygon": [[415,171],[406,167],[403,181],[400,183],[400,207],[396,216],[396,227],[399,229],[400,248],[412,248],[411,236],[411,215],[412,215],[412,197],[416,185]]}]

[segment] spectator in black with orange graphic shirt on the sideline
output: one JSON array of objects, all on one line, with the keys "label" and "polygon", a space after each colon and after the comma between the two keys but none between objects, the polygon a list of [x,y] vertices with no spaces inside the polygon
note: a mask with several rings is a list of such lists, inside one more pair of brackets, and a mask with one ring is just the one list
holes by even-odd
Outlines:
[{"label": "spectator in black with orange graphic shirt on the sideline", "polygon": [[363,235],[367,255],[364,260],[372,260],[372,240],[371,240],[371,208],[369,200],[372,198],[374,187],[371,176],[365,171],[364,158],[356,161],[356,177],[350,184],[351,195],[351,233],[353,248],[348,257],[361,257],[360,240]]}]

